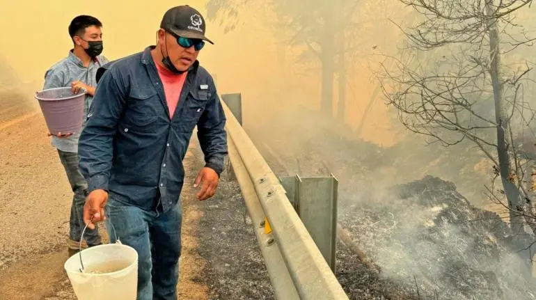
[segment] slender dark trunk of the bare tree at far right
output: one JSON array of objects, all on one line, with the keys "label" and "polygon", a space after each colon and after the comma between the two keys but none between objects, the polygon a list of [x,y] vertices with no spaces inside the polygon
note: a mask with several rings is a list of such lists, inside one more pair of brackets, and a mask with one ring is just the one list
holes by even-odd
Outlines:
[{"label": "slender dark trunk of the bare tree at far right", "polygon": [[500,80],[500,51],[497,20],[491,17],[494,14],[494,0],[486,1],[486,13],[489,19],[489,55],[491,84],[494,90],[495,120],[497,123],[497,155],[499,161],[500,180],[503,183],[508,207],[510,208],[510,224],[515,232],[520,232],[523,228],[523,219],[519,216],[521,210],[521,198],[519,189],[514,183],[512,164],[508,155],[507,132],[510,120],[508,119],[505,100],[503,99],[503,83]]}]

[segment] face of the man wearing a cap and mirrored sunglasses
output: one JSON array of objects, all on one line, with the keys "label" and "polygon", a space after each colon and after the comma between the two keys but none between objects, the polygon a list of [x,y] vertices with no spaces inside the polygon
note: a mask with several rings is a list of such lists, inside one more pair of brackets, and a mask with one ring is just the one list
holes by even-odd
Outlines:
[{"label": "face of the man wearing a cap and mirrored sunglasses", "polygon": [[181,47],[177,38],[171,33],[164,31],[164,29],[158,31],[158,42],[162,52],[164,52],[164,57],[167,54],[173,65],[175,65],[175,68],[179,71],[188,70],[196,62],[197,56],[199,55],[199,51],[196,51],[194,46],[189,48]]}]

